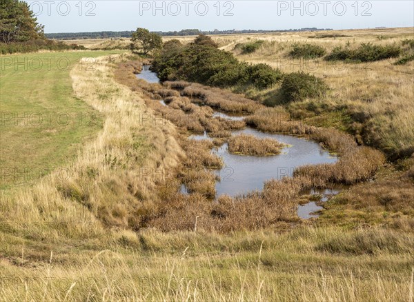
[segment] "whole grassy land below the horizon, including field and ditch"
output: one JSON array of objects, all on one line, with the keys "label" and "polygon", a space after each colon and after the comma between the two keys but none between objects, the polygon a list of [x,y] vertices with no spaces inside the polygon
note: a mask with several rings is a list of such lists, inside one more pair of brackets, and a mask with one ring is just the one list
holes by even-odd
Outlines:
[{"label": "whole grassy land below the horizon, including field and ditch", "polygon": [[413,301],[414,28],[151,37],[1,43],[0,301]]}]

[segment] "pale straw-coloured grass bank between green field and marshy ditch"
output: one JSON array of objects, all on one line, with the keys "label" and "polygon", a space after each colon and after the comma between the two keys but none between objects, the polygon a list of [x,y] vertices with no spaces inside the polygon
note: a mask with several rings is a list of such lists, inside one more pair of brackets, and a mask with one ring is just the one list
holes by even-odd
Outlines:
[{"label": "pale straw-coloured grass bank between green field and marshy ditch", "polygon": [[[105,117],[96,139],[66,167],[76,172],[62,177],[60,170],[28,190],[2,192],[3,219],[35,225],[26,236],[41,232],[57,239],[63,232],[88,238],[103,234],[103,225],[137,228],[139,213],[152,208],[156,184],[163,181],[153,177],[154,171],[177,166],[183,156],[172,125],[153,125],[142,118],[151,111],[142,99],[113,81],[114,66],[108,58],[97,60],[95,68],[71,72],[75,95]],[[61,230],[48,226],[50,220]]]}]

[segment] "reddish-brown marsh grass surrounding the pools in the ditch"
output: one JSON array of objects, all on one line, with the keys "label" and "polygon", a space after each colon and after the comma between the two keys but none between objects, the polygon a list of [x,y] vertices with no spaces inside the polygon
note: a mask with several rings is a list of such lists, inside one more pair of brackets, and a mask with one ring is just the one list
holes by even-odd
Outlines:
[{"label": "reddish-brown marsh grass surrounding the pools in the ditch", "polygon": [[[139,82],[137,82],[139,83]],[[166,82],[168,89],[181,90],[181,94],[188,97],[201,99],[201,106],[191,104],[186,97],[170,97],[166,106],[155,104],[155,110],[181,110],[181,114],[188,114],[194,110],[210,111],[212,99],[215,108],[221,108],[226,112],[234,112],[237,104],[228,105],[229,100],[241,103],[244,98],[232,92],[210,88],[201,84],[185,82]],[[146,89],[147,84],[141,85]],[[153,85],[150,86],[152,89]],[[226,99],[220,96],[226,96]],[[217,97],[219,96],[219,97]],[[206,101],[210,97],[210,101]],[[197,101],[198,102],[198,101]],[[253,101],[249,101],[253,102]],[[154,102],[147,101],[151,106]],[[224,109],[226,108],[226,109]],[[179,111],[178,111],[179,112]],[[178,114],[178,113],[177,113]],[[212,120],[213,119],[213,120]],[[170,119],[173,123],[172,119]],[[204,114],[200,119],[204,130],[214,134],[217,130],[226,126],[224,119],[215,119],[212,114]],[[373,177],[377,169],[384,162],[381,152],[366,147],[358,147],[355,140],[349,134],[344,134],[335,129],[317,128],[306,125],[300,121],[290,120],[289,114],[283,108],[265,108],[255,103],[255,113],[245,118],[248,125],[266,132],[286,132],[289,134],[306,135],[309,139],[318,141],[328,150],[339,154],[339,161],[335,164],[309,165],[295,170],[295,177],[282,180],[268,181],[262,192],[251,192],[242,197],[222,196],[212,203],[210,199],[215,197],[215,181],[217,180],[211,168],[221,166],[217,158],[209,150],[213,148],[213,141],[187,141],[180,140],[181,147],[187,154],[182,168],[178,169],[177,177],[186,185],[190,193],[186,197],[175,192],[164,196],[164,201],[157,208],[164,210],[155,216],[146,218],[148,225],[163,231],[191,230],[197,217],[197,225],[204,230],[215,232],[233,232],[240,228],[246,230],[259,230],[269,226],[275,227],[281,223],[298,223],[297,205],[302,202],[301,194],[311,188],[326,188],[335,183],[353,184],[366,181]],[[219,122],[219,123],[218,123]],[[179,124],[177,124],[179,125]],[[217,128],[214,126],[217,125]],[[244,125],[244,123],[239,126]],[[228,130],[234,127],[228,127]],[[223,128],[225,129],[225,128]],[[230,137],[230,131],[217,137]],[[268,154],[279,152],[281,145],[269,140],[266,143],[251,137],[230,137],[229,148],[235,148],[236,152],[248,154]],[[254,143],[253,143],[254,141]],[[217,142],[217,143],[222,143]],[[269,144],[271,148],[269,147]],[[236,148],[237,147],[237,148]],[[243,150],[242,150],[243,149]],[[232,152],[232,150],[230,150]],[[167,223],[168,221],[168,223]]]}]

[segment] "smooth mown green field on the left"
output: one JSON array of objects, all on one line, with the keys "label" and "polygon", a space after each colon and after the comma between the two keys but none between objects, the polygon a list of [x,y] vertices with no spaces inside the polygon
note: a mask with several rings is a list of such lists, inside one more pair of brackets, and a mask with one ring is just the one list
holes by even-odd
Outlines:
[{"label": "smooth mown green field on the left", "polygon": [[75,98],[71,68],[94,68],[116,51],[45,52],[1,57],[1,189],[33,183],[77,155],[102,117]]}]

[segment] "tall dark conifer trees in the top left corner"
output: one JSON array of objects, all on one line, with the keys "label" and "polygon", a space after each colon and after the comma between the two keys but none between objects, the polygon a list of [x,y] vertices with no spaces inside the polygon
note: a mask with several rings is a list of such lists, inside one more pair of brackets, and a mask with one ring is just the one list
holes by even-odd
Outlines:
[{"label": "tall dark conifer trees in the top left corner", "polygon": [[28,3],[19,0],[1,0],[0,2],[0,42],[26,42],[45,39],[44,26],[37,23],[37,18]]}]

